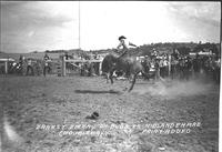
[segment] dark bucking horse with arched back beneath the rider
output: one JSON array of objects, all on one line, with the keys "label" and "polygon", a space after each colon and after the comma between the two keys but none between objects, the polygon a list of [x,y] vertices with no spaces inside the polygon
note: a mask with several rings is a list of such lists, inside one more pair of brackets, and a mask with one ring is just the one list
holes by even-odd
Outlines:
[{"label": "dark bucking horse with arched back beneath the rider", "polygon": [[133,89],[137,75],[141,72],[144,77],[149,79],[149,75],[144,72],[142,64],[137,61],[135,57],[117,57],[113,54],[108,54],[102,61],[102,72],[107,73],[107,80],[113,83],[113,72],[123,71],[130,73],[132,77],[132,84],[129,92]]}]

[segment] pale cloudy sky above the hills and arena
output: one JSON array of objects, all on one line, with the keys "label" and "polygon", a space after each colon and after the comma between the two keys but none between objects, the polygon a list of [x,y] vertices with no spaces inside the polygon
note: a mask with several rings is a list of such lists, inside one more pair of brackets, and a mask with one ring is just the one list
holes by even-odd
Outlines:
[{"label": "pale cloudy sky above the hills and arena", "polygon": [[2,52],[221,41],[220,2],[1,1],[0,21]]}]

